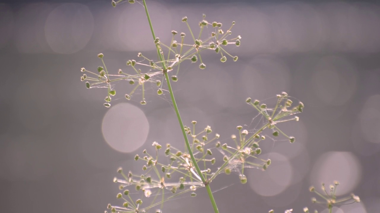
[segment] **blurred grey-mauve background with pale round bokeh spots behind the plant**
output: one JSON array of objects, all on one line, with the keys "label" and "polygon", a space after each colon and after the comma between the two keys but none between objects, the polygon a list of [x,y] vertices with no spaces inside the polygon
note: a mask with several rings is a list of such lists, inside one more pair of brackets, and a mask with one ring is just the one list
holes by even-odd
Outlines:
[{"label": "blurred grey-mauve background with pale round bokeh spots behind the plant", "polygon": [[[139,4],[111,1],[2,1],[0,3],[0,206],[4,212],[103,212],[116,200],[116,169],[141,171],[133,157],[153,141],[181,146],[168,94],[146,89],[128,101],[116,84],[111,108],[106,89],[86,89],[81,67],[130,72],[138,52],[154,58],[149,25]],[[171,30],[185,32],[188,17],[198,33],[202,14],[222,22],[242,45],[226,47],[237,62],[212,51],[207,68],[184,63],[174,83],[185,124],[210,125],[226,142],[237,125],[252,130],[255,110],[247,97],[264,100],[282,91],[301,100],[299,122],[283,131],[296,143],[268,141],[268,171],[220,175],[212,189],[220,212],[317,209],[320,183],[341,183],[339,195],[360,203],[338,213],[380,212],[380,4],[376,1],[147,1],[156,35],[169,44]],[[210,27],[204,33],[211,33]],[[189,35],[189,34],[188,34]],[[188,36],[189,37],[189,36]],[[179,40],[179,39],[177,39]],[[230,47],[231,46],[231,47]],[[125,89],[125,91],[123,91]],[[150,149],[149,148],[149,149]],[[276,166],[277,163],[277,166]],[[231,185],[231,183],[235,183]],[[227,187],[227,188],[225,188]],[[223,189],[225,188],[225,189]],[[219,190],[223,189],[223,190]],[[163,212],[212,212],[206,191],[176,199]],[[197,205],[194,205],[197,204]]]}]

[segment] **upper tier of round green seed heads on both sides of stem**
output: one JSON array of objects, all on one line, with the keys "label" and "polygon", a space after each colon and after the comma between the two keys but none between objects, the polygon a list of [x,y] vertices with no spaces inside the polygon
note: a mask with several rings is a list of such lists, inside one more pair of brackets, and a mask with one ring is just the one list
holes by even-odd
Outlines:
[{"label": "upper tier of round green seed heads on both sides of stem", "polygon": [[[123,1],[112,1],[112,5],[121,3]],[[135,3],[135,0],[129,0],[129,3]],[[185,43],[185,33],[178,33],[177,31],[171,31],[172,39],[169,45],[163,44],[160,41],[160,38],[155,38],[154,44],[157,47],[157,53],[160,56],[159,60],[151,60],[144,56],[142,53],[138,53],[138,57],[141,60],[128,60],[127,66],[130,66],[131,72],[124,72],[122,69],[119,69],[117,73],[111,74],[108,72],[106,65],[104,63],[102,53],[98,54],[98,57],[101,60],[103,66],[97,68],[97,72],[91,72],[85,68],[82,68],[82,72],[86,72],[82,75],[81,80],[86,81],[86,88],[107,88],[108,94],[105,97],[106,103],[105,107],[110,107],[112,96],[116,95],[116,90],[114,89],[114,83],[116,81],[128,81],[130,85],[134,85],[131,91],[125,94],[127,100],[131,99],[132,94],[137,89],[142,91],[142,99],[140,103],[142,105],[146,104],[144,91],[146,83],[154,83],[157,87],[157,94],[161,95],[165,91],[163,89],[163,82],[165,80],[165,75],[161,76],[160,74],[165,74],[167,72],[175,72],[171,75],[172,81],[178,80],[180,63],[184,61],[191,61],[191,63],[198,63],[199,68],[205,69],[206,64],[203,62],[201,53],[204,50],[213,50],[216,53],[220,54],[220,61],[225,62],[227,60],[226,56],[233,58],[233,61],[237,61],[237,56],[230,55],[226,50],[225,46],[227,45],[240,45],[241,36],[236,36],[235,38],[228,38],[232,34],[232,27],[235,25],[235,22],[232,22],[231,27],[225,32],[222,30],[222,23],[220,22],[208,22],[205,20],[206,16],[203,15],[203,20],[199,22],[199,35],[195,36],[190,25],[187,22],[187,17],[182,18],[182,22],[186,23],[188,30],[192,37],[191,44]],[[202,40],[201,38],[204,28],[211,27],[212,33],[206,36],[206,39]],[[179,36],[179,38],[177,38]],[[176,40],[178,39],[178,41]],[[165,49],[165,52],[164,52]],[[166,52],[167,51],[167,52]],[[165,57],[166,56],[166,57]],[[141,67],[139,69],[138,67]],[[145,71],[144,71],[145,70]]]}]

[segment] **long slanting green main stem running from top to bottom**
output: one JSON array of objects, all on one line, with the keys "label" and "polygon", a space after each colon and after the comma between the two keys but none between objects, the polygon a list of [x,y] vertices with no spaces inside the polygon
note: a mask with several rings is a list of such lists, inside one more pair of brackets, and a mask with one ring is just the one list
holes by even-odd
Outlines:
[{"label": "long slanting green main stem running from top to bottom", "polygon": [[[149,22],[149,26],[150,26],[150,31],[152,31],[153,40],[155,40],[156,36],[154,34],[154,30],[153,30],[153,26],[152,26],[152,21],[150,20],[150,16],[149,16],[149,13],[148,13],[148,8],[146,6],[146,2],[145,2],[145,0],[142,0],[142,2],[144,4],[146,16],[148,18],[148,22]],[[207,194],[210,197],[210,201],[211,201],[211,204],[212,204],[212,208],[214,208],[214,212],[215,213],[219,213],[219,210],[218,210],[218,207],[216,205],[214,196],[212,195],[212,191],[211,191],[210,185],[209,185],[209,183],[207,183],[206,179],[204,178],[204,176],[203,176],[203,174],[201,172],[201,169],[199,168],[198,163],[196,162],[195,157],[193,155],[190,143],[189,143],[187,135],[186,135],[184,124],[183,124],[181,116],[179,114],[179,110],[178,110],[178,107],[177,107],[176,99],[174,99],[173,89],[171,88],[171,84],[170,84],[170,80],[169,80],[169,75],[168,75],[168,70],[166,69],[164,57],[163,57],[163,55],[162,55],[162,53],[160,51],[160,47],[158,46],[158,44],[156,44],[156,48],[157,48],[157,54],[160,57],[160,60],[162,61],[163,73],[164,73],[165,78],[166,78],[166,83],[168,84],[168,89],[169,89],[170,97],[171,97],[171,100],[173,102],[174,110],[176,111],[176,114],[177,114],[177,119],[178,119],[179,125],[180,125],[181,130],[182,130],[182,134],[183,134],[184,139],[185,139],[187,150],[188,150],[188,152],[190,154],[190,157],[192,159],[193,165],[195,166],[196,172],[198,173],[198,175],[201,178],[202,182],[206,186]]]}]

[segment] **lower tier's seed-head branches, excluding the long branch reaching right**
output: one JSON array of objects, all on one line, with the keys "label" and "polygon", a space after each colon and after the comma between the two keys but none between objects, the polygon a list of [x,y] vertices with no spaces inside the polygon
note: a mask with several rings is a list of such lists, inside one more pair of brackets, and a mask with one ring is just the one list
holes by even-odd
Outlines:
[{"label": "lower tier's seed-head branches, excluding the long branch reaching right", "polygon": [[[211,127],[207,126],[203,131],[195,133],[196,121],[192,122],[193,128],[185,127],[188,137],[192,139],[192,152],[196,161],[204,168],[201,171],[204,177],[212,175],[210,165],[215,163],[215,158],[212,157],[211,149],[207,147],[219,138],[215,134],[210,138],[212,133]],[[196,196],[196,190],[204,187],[205,183],[196,172],[195,166],[188,151],[179,150],[170,144],[166,144],[165,159],[168,164],[162,163],[165,160],[158,160],[159,152],[163,147],[157,142],[153,142],[156,153],[150,155],[147,150],[143,151],[144,156],[135,156],[136,161],[144,161],[142,166],[144,174],[135,175],[132,172],[125,174],[122,168],[118,169],[118,173],[123,176],[123,179],[114,178],[115,183],[119,183],[120,190],[123,193],[117,194],[118,199],[123,200],[122,206],[108,205],[111,212],[147,212],[151,208],[157,208],[155,212],[161,212],[163,203],[169,199],[180,196],[182,194],[190,193],[190,196]],[[160,158],[161,159],[161,158]],[[202,163],[201,163],[202,162]],[[154,176],[152,176],[154,175]],[[128,186],[135,186],[138,194],[138,199],[133,199]],[[143,198],[144,201],[143,205]]]}]

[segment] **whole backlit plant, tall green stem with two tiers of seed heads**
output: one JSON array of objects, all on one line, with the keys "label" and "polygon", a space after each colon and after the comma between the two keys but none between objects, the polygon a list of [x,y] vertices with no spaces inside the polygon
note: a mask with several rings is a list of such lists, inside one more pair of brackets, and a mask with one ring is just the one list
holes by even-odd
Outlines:
[{"label": "whole backlit plant, tall green stem with two tiers of seed heads", "polygon": [[[112,1],[112,6],[122,2],[136,3],[135,0],[117,2]],[[131,85],[130,91],[125,94],[125,98],[130,100],[137,89],[141,89],[142,97],[139,102],[145,105],[145,89],[147,84],[157,86],[157,94],[168,92],[176,112],[177,119],[184,136],[184,147],[173,147],[170,144],[160,144],[153,142],[154,153],[147,150],[142,155],[136,155],[136,161],[143,161],[142,174],[123,171],[117,169],[120,177],[115,177],[114,182],[119,184],[120,193],[116,198],[121,200],[119,205],[108,205],[111,212],[156,212],[160,213],[164,209],[164,202],[180,195],[196,196],[199,188],[206,188],[215,213],[218,213],[217,203],[211,190],[212,181],[219,174],[239,174],[242,184],[247,183],[245,171],[250,168],[266,170],[271,164],[270,159],[261,158],[262,152],[260,144],[266,138],[284,137],[290,143],[294,143],[295,138],[282,132],[277,124],[280,122],[298,121],[295,114],[303,111],[302,102],[293,103],[286,92],[276,96],[275,105],[268,107],[259,100],[248,98],[253,111],[260,115],[260,119],[254,131],[247,130],[242,126],[237,126],[237,134],[232,135],[229,143],[218,141],[220,135],[213,133],[210,126],[206,126],[202,131],[196,131],[196,121],[189,126],[185,126],[180,117],[179,109],[174,98],[171,81],[179,80],[180,64],[184,61],[195,63],[200,69],[205,69],[206,64],[202,60],[201,53],[204,51],[214,51],[220,54],[220,61],[224,63],[227,58],[237,61],[238,57],[227,52],[228,45],[240,46],[241,36],[232,36],[232,22],[228,30],[222,29],[219,22],[208,22],[206,16],[199,22],[199,33],[195,34],[187,22],[187,17],[182,18],[182,22],[187,25],[192,43],[185,42],[186,33],[171,31],[172,38],[170,44],[163,44],[155,36],[152,22],[149,16],[146,1],[138,2],[144,6],[146,16],[152,32],[152,41],[157,50],[157,59],[151,59],[138,53],[139,60],[128,60],[128,71],[119,69],[117,72],[110,72],[105,65],[105,56],[100,53],[98,58],[101,66],[95,71],[82,68],[84,74],[82,81],[86,82],[86,88],[107,88],[105,97],[105,107],[111,107],[112,97],[116,95],[114,83],[116,81],[127,81]],[[204,36],[204,28],[212,28],[212,33]],[[232,37],[232,38],[231,38]],[[206,70],[205,70],[206,72]],[[169,73],[171,76],[169,76]],[[173,73],[173,74],[172,74]],[[168,90],[163,89],[166,83]],[[269,131],[269,133],[264,133]],[[268,140],[268,139],[267,139]],[[214,152],[222,153],[223,157],[215,157]],[[324,197],[326,202],[332,202],[334,197]],[[334,198],[335,199],[335,198]],[[353,199],[355,199],[353,197]],[[292,210],[286,210],[290,213]],[[308,212],[307,208],[304,209]],[[107,212],[107,211],[106,211]],[[273,212],[273,210],[269,211]]]}]

